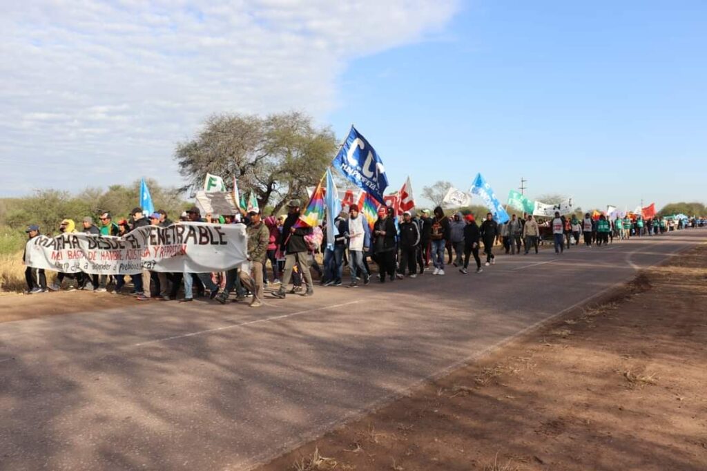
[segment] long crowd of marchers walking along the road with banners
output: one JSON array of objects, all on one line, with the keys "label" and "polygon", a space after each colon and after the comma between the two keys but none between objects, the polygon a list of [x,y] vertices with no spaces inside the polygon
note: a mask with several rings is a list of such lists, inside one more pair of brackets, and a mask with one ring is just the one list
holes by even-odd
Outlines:
[{"label": "long crowd of marchers walking along the road with banners", "polygon": [[[337,229],[333,232],[337,236],[333,241],[327,241],[326,226],[300,227],[297,224],[299,218],[300,202],[296,199],[288,202],[286,215],[265,218],[258,209],[230,216],[207,214],[202,218],[199,209],[192,207],[180,216],[180,221],[245,224],[247,262],[221,273],[164,273],[147,269],[137,275],[59,272],[52,284],[47,284],[44,269],[27,267],[26,292],[61,289],[105,292],[111,287],[112,293],[122,293],[127,289],[126,277],[130,277],[132,291],[129,293],[139,301],[176,300],[182,288],[180,303],[193,301],[194,296],[206,296],[208,291],[209,298],[220,303],[228,302],[230,294],[235,293],[235,301],[250,298],[250,306],[258,307],[262,306],[266,286],[275,287],[271,293],[276,298],[285,298],[288,293],[312,296],[312,271],[317,273],[320,285],[341,286],[344,284],[346,265],[349,268],[350,288],[358,287],[359,283],[368,285],[374,277],[368,264],[369,257],[378,266],[377,279],[380,283],[406,276],[416,278],[426,270],[431,270],[433,276],[444,276],[445,267],[450,264],[460,273],[467,274],[472,257],[479,274],[483,272],[481,250],[486,259],[484,265],[488,267],[495,262],[493,250],[499,244],[507,254],[524,252],[527,255],[531,250],[537,254],[539,245],[551,236],[555,252],[563,253],[580,243],[587,247],[601,247],[614,240],[658,236],[703,222],[682,220],[676,226],[675,221],[660,217],[612,218],[604,214],[592,217],[588,213],[578,219],[576,215],[565,217],[556,213],[548,221],[536,220],[532,215],[519,218],[514,214],[507,223],[498,224],[491,213],[477,223],[474,214],[456,212],[447,216],[441,207],[436,207],[432,212],[423,209],[417,214],[405,211],[402,218],[397,217],[391,207],[380,207],[378,219],[371,228],[361,214],[361,208],[351,204],[332,221]],[[64,219],[59,232],[124,236],[143,226],[167,227],[173,224],[165,211],[144,214],[139,207],[132,210],[129,219],[114,221],[109,213],[104,212],[98,220],[96,224],[92,217],[87,216],[81,221],[81,228],[76,228],[73,220]],[[40,228],[29,226],[26,232],[32,239],[40,235]],[[323,266],[317,262],[320,252],[323,252]]]}]

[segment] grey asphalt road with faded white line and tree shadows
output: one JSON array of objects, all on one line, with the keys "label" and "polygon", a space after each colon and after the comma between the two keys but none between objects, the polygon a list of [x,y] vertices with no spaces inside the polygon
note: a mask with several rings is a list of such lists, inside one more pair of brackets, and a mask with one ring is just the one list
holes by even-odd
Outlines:
[{"label": "grey asphalt road with faded white line and tree shadows", "polygon": [[501,256],[259,310],[136,302],[0,324],[0,469],[248,469],[706,240]]}]

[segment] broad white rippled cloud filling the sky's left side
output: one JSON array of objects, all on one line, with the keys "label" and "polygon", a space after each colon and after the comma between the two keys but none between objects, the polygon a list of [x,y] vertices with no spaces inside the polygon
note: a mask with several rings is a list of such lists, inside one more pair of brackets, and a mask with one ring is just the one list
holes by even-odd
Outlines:
[{"label": "broad white rippled cloud filling the sky's left side", "polygon": [[[0,188],[13,192],[142,175],[177,183],[175,142],[207,115],[322,117],[351,59],[421,40],[457,9],[456,0],[10,3],[0,18]],[[36,175],[37,163],[54,165]]]}]

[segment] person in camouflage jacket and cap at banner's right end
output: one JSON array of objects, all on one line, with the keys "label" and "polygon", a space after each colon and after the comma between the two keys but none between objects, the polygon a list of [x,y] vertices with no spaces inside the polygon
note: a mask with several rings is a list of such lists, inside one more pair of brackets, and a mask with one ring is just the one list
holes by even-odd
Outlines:
[{"label": "person in camouflage jacket and cap at banner's right end", "polygon": [[250,226],[246,229],[248,236],[248,260],[240,269],[240,281],[248,291],[253,293],[251,308],[259,308],[263,301],[263,267],[267,255],[267,245],[270,231],[262,222],[260,210],[253,208],[248,211]]}]

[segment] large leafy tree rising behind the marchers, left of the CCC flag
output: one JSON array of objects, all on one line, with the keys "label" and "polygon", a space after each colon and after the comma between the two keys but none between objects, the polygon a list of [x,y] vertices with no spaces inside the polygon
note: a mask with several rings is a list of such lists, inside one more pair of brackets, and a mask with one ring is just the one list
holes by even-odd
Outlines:
[{"label": "large leafy tree rising behind the marchers, left of the CCC flag", "polygon": [[224,114],[209,117],[194,139],[177,144],[175,160],[188,182],[183,190],[201,189],[206,173],[235,177],[261,207],[279,211],[288,199],[307,196],[306,187],[317,185],[336,150],[334,133],[300,112]]}]

